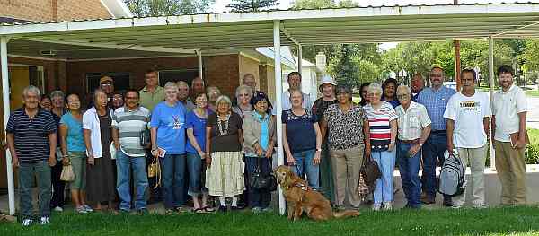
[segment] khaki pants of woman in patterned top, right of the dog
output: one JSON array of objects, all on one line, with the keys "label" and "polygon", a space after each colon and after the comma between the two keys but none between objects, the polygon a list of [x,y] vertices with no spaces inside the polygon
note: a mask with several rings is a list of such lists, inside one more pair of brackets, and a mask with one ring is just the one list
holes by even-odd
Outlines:
[{"label": "khaki pants of woman in patterned top, right of the dog", "polygon": [[[331,169],[335,185],[335,205],[344,205],[348,194],[349,203],[353,207],[361,205],[358,193],[359,171],[363,162],[363,145],[349,149],[331,149]],[[348,193],[347,193],[348,192]]]}]

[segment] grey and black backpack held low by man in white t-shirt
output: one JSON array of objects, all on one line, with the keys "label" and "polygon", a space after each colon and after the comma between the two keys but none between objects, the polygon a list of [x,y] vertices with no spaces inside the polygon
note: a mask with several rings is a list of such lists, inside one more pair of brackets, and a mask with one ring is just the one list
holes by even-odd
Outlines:
[{"label": "grey and black backpack held low by man in white t-shirt", "polygon": [[459,196],[464,193],[466,188],[465,166],[463,162],[458,158],[458,153],[449,153],[446,150],[444,153],[444,164],[440,170],[440,177],[438,180],[438,192],[448,196]]}]

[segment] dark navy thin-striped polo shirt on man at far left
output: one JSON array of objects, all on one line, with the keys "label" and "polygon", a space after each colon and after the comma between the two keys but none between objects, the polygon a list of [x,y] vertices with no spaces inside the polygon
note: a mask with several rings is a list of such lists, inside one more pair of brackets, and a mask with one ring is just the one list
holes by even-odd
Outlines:
[{"label": "dark navy thin-striped polo shirt on man at far left", "polygon": [[36,116],[30,118],[22,107],[9,116],[5,132],[14,135],[19,162],[43,162],[49,159],[48,135],[57,133],[57,123],[47,110],[39,109]]}]

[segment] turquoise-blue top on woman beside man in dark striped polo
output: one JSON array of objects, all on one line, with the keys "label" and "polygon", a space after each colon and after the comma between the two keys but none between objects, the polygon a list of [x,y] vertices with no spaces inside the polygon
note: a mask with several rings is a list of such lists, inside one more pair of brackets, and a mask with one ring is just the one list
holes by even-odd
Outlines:
[{"label": "turquoise-blue top on woman beside man in dark striped polo", "polygon": [[60,119],[60,124],[67,126],[67,152],[85,152],[86,145],[84,144],[83,136],[83,120],[76,120],[71,112],[67,112]]}]

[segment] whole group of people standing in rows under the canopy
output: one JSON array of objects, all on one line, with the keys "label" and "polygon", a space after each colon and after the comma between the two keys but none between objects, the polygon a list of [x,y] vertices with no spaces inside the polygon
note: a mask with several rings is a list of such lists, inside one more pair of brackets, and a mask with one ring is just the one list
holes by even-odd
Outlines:
[{"label": "whole group of people standing in rows under the canopy", "polygon": [[[153,202],[163,199],[167,214],[184,212],[188,198],[194,213],[245,205],[254,213],[270,211],[270,190],[249,183],[255,172],[271,174],[278,125],[287,165],[337,211],[346,209],[345,198],[354,208],[364,202],[358,184],[368,159],[382,173],[372,186],[374,210],[392,209],[395,164],[406,207],[433,204],[436,167],[446,150],[469,163],[471,202],[484,207],[482,172],[492,118],[501,202],[523,204],[526,96],[513,85],[510,66],[499,67],[498,74],[501,90],[491,100],[475,91],[473,70],[462,72],[463,89],[455,92],[443,85],[443,69],[434,67],[428,88],[420,74],[411,88],[394,79],[365,83],[355,104],[352,90],[330,76],[323,77],[322,97],[312,103],[301,91],[301,74],[293,72],[287,76],[280,124],[268,95],[256,90],[253,74],[243,76],[233,99],[200,78],[191,88],[183,81],[161,87],[157,72],[148,70],[143,89],[119,93],[113,79],[104,76],[86,110],[75,93],[55,91],[49,97],[29,86],[22,92],[23,107],[13,111],[6,127],[19,171],[22,224],[33,223],[34,175],[40,188],[39,223],[49,223],[50,209],[63,210],[65,165],[75,173],[67,184],[79,214],[102,210],[102,204],[113,212],[145,214],[148,195]],[[155,163],[160,175],[148,178],[147,169]],[[461,207],[464,196],[444,196],[444,205]]]}]

